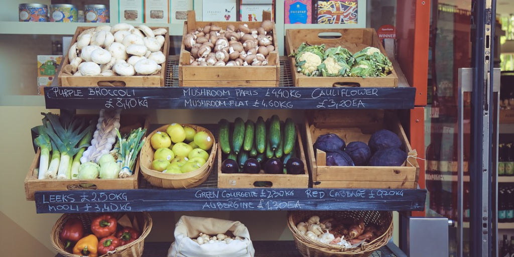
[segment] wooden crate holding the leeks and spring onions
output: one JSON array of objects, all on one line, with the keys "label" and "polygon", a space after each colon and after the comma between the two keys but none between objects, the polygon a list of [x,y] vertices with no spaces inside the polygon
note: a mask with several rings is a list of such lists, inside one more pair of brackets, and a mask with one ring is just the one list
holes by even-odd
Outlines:
[{"label": "wooden crate holding the leeks and spring onions", "polygon": [[[86,117],[91,119],[98,119],[94,115],[78,115],[78,117]],[[121,115],[121,127],[139,123],[142,127],[148,128],[148,120],[146,116],[136,115]],[[138,127],[139,127],[138,126]],[[121,129],[120,127],[120,129]],[[126,178],[116,179],[38,179],[38,175],[34,173],[34,169],[39,167],[39,157],[41,149],[38,149],[32,164],[30,165],[29,172],[25,177],[25,198],[27,200],[34,200],[34,193],[36,191],[68,191],[68,190],[111,190],[111,189],[137,189],[138,176],[139,176],[139,158],[136,161],[134,175]],[[70,160],[71,161],[71,160]],[[93,187],[82,188],[80,185],[84,183],[94,184]]]}]

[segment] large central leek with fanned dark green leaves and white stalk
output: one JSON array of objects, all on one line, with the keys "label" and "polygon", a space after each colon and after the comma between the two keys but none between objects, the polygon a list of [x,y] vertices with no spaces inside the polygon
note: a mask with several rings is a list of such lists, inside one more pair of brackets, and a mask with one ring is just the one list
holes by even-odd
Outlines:
[{"label": "large central leek with fanned dark green leaves and white stalk", "polygon": [[[87,126],[84,129],[85,121],[82,119],[61,118],[55,114],[43,114],[50,122],[53,131],[48,130],[48,136],[61,152],[59,162],[59,170],[57,171],[58,179],[67,178],[70,158],[77,154],[81,148],[87,147],[89,143],[78,144],[79,141],[93,129],[93,126]],[[71,173],[71,171],[69,172]]]}]

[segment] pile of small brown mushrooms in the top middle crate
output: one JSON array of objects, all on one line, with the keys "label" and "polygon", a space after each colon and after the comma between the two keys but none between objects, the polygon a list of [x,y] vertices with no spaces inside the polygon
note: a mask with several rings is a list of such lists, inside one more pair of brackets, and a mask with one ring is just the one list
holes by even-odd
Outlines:
[{"label": "pile of small brown mushrooms in the top middle crate", "polygon": [[191,53],[191,65],[267,65],[268,54],[275,50],[272,29],[271,21],[263,21],[257,29],[246,24],[237,28],[228,25],[226,29],[212,24],[190,31],[183,43]]}]

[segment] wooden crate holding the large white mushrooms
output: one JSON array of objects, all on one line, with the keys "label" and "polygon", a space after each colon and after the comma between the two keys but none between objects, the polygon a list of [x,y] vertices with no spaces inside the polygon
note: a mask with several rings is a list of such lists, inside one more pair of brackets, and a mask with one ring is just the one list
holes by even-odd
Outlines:
[{"label": "wooden crate holding the large white mushrooms", "polygon": [[[77,37],[82,31],[95,27],[77,27],[75,35],[71,40],[71,45],[77,42]],[[156,29],[159,27],[150,27]],[[163,27],[168,29],[167,27]],[[164,35],[164,45],[162,53],[168,58],[169,44],[170,44],[170,32],[166,32]],[[71,46],[70,45],[70,46]],[[62,61],[62,66],[69,64],[68,54]],[[115,76],[115,77],[104,77],[104,76],[91,76],[91,77],[76,77],[65,74],[61,68],[58,75],[59,86],[137,86],[137,87],[161,87],[166,82],[166,71],[168,61],[161,64],[161,71],[156,75],[148,76]]]}]

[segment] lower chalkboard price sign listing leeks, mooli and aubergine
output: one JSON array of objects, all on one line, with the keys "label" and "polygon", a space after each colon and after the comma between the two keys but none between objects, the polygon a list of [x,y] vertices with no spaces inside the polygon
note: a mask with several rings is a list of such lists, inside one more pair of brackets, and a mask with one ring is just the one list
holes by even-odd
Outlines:
[{"label": "lower chalkboard price sign listing leeks, mooli and aubergine", "polygon": [[36,192],[38,213],[125,211],[407,210],[425,206],[426,190],[184,189]]}]

